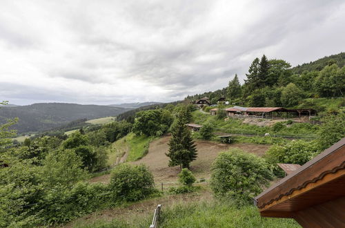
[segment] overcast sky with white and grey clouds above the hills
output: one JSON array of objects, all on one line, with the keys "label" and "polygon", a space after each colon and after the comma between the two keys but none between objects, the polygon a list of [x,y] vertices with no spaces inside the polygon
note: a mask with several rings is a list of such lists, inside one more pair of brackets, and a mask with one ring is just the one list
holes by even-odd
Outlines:
[{"label": "overcast sky with white and grey clouds above the hills", "polygon": [[170,102],[345,50],[345,1],[0,1],[0,100]]}]

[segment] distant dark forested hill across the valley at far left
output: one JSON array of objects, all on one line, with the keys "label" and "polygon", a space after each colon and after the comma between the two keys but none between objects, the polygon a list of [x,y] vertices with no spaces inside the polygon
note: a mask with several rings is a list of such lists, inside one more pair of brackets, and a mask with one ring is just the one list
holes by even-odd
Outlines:
[{"label": "distant dark forested hill across the valley at far left", "polygon": [[13,129],[16,129],[18,133],[47,131],[73,120],[115,116],[128,110],[128,108],[111,106],[65,103],[1,106],[0,123],[4,123],[10,118],[19,117],[19,122],[13,126]]}]

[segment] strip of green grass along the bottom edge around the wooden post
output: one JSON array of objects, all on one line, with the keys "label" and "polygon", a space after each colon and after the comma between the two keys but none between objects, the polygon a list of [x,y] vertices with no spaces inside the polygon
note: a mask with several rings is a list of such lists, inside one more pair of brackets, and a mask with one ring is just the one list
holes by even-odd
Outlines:
[{"label": "strip of green grass along the bottom edge around the wooden post", "polygon": [[[300,227],[293,219],[262,218],[253,205],[236,207],[231,202],[218,202],[209,197],[183,196],[170,200],[165,197],[155,199],[156,204],[163,205],[159,227]],[[75,223],[73,227],[149,227],[156,205],[145,210],[142,206],[138,204],[135,210],[126,210],[126,216],[117,214],[112,219],[94,217],[91,221]]]}]

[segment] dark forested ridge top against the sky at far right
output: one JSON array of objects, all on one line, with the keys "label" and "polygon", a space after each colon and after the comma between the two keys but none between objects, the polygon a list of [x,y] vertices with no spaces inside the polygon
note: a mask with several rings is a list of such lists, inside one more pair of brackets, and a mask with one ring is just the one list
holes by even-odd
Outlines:
[{"label": "dark forested ridge top against the sky at far right", "polygon": [[293,70],[293,73],[295,74],[300,74],[304,70],[307,71],[313,71],[313,70],[322,70],[325,66],[328,64],[337,64],[339,68],[342,68],[345,66],[345,53],[339,53],[337,55],[330,55],[330,56],[325,56],[321,59],[317,59],[316,61],[311,61],[308,64],[302,64],[293,67],[291,70]]}]

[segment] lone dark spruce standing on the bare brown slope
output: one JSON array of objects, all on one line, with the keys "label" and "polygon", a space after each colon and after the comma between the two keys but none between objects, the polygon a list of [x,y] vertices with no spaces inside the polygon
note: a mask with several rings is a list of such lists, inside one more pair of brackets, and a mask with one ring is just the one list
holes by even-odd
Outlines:
[{"label": "lone dark spruce standing on the bare brown slope", "polygon": [[179,165],[180,169],[189,168],[190,162],[197,158],[196,145],[182,114],[177,116],[177,122],[174,125],[169,142],[169,152],[166,153],[170,158],[168,166]]}]

